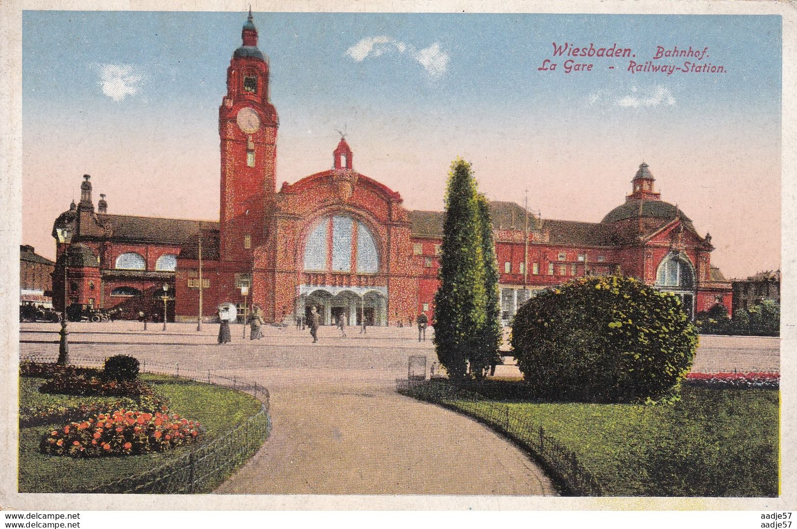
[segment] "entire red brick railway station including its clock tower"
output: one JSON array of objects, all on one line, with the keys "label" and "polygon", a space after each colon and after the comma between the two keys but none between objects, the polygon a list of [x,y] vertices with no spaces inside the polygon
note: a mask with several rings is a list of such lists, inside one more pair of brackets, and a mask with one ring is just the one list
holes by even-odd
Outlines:
[{"label": "entire red brick railway station including its clock tower", "polygon": [[[71,301],[163,314],[166,285],[168,318],[196,321],[200,285],[206,318],[222,305],[241,308],[241,286],[250,286],[247,305],[271,322],[293,321],[310,306],[324,322],[343,316],[351,325],[432,316],[443,213],[403,207],[398,192],[355,170],[345,139],[331,169],[277,191],[279,120],[251,14],[241,38],[219,107],[220,221],[112,215],[104,197],[95,212],[86,176],[80,204],[53,227],[58,240],[73,234],[66,257],[67,244],[57,243]],[[647,164],[600,223],[527,217],[511,202],[494,201],[491,211],[505,320],[534,290],[589,274],[641,278],[675,292],[691,312],[731,307],[730,284],[710,263],[710,235],[662,201]]]}]

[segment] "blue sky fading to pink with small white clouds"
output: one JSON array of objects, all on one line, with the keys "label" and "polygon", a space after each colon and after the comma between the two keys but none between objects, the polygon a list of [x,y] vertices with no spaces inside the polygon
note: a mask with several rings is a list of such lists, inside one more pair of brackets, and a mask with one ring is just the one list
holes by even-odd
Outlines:
[{"label": "blue sky fading to pink with small white clouds", "polygon": [[[84,173],[108,211],[218,219],[218,105],[245,13],[25,11],[23,243]],[[480,191],[599,222],[644,160],[728,278],[780,266],[781,20],[753,15],[254,13],[280,115],[277,187],[332,164],[442,210],[451,160]],[[553,44],[633,57],[555,57]],[[654,59],[658,46],[705,56]],[[565,71],[567,58],[592,64]],[[540,70],[544,61],[556,70]],[[720,65],[724,73],[629,72]],[[614,66],[614,68],[610,68]]]}]

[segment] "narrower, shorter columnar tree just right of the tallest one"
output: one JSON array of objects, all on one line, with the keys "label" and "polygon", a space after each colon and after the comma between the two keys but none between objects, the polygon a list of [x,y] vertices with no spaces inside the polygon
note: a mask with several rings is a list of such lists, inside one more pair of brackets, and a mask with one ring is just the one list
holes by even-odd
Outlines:
[{"label": "narrower, shorter columnar tree just right of the tallest one", "polygon": [[470,369],[477,378],[501,361],[501,305],[498,291],[498,260],[493,239],[493,219],[489,201],[481,193],[477,195],[479,224],[481,227],[481,256],[485,267],[485,323],[481,329],[477,357],[470,361]]}]

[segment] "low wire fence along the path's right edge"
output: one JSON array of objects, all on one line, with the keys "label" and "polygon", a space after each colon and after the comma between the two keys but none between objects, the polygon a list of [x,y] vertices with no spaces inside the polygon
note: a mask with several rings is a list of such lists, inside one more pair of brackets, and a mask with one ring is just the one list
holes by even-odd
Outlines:
[{"label": "low wire fence along the path's right edge", "polygon": [[[526,448],[548,472],[548,476],[556,480],[565,494],[603,495],[603,489],[598,480],[586,468],[583,468],[574,452],[564,448],[552,436],[549,436],[541,424],[537,424],[528,416],[519,416],[514,413],[511,406],[501,405],[495,401],[480,400],[476,394],[465,392],[457,393],[455,398],[448,400],[446,394],[439,391],[444,383],[430,387],[423,382],[397,382],[398,393],[470,416]],[[453,387],[449,389],[451,397],[453,397],[455,389]],[[464,401],[465,405],[453,405],[453,400]]]}]

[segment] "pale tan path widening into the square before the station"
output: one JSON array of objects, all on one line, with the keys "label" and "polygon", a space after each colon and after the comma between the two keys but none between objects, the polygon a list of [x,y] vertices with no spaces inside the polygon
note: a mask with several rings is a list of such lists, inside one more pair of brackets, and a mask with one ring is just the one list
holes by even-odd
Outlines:
[{"label": "pale tan path widening into the square before the station", "polygon": [[[167,333],[129,322],[70,325],[70,354],[97,362],[114,353],[141,361],[212,369],[256,380],[271,393],[272,436],[220,493],[552,495],[540,468],[476,421],[395,393],[410,354],[434,358],[412,329],[374,329],[350,338],[324,327],[267,328],[261,341],[215,345],[218,326],[196,333],[170,324]],[[151,328],[151,327],[150,327]],[[23,325],[23,354],[53,358],[53,325]],[[105,332],[97,332],[105,331]],[[238,331],[238,332],[236,332]],[[120,333],[120,334],[116,334]]]}]

